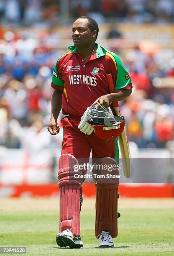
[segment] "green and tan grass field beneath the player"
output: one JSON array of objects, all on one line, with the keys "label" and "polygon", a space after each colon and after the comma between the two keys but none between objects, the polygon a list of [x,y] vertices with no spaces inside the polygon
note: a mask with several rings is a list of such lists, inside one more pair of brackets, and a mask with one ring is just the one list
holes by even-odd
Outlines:
[{"label": "green and tan grass field beneath the player", "polygon": [[1,199],[0,246],[26,246],[25,255],[174,255],[174,200],[119,201],[121,217],[114,248],[97,248],[95,200],[84,199],[81,212],[84,247],[69,249],[60,248],[55,242],[57,200]]}]

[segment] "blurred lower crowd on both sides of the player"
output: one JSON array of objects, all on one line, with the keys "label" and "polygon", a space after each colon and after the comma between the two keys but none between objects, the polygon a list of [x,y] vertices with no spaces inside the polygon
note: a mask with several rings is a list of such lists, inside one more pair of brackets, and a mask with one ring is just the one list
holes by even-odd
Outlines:
[{"label": "blurred lower crowd on both sides of the player", "polygon": [[[120,31],[111,28],[105,38],[122,37]],[[57,136],[47,131],[52,72],[56,59],[66,48],[62,52],[46,42],[58,38],[54,38],[52,31],[41,33],[39,40],[30,36],[22,38],[12,31],[3,34],[0,42],[1,146],[32,150],[61,148],[62,129]],[[128,139],[139,148],[165,147],[174,138],[174,88],[160,88],[159,81],[170,77],[174,84],[174,53],[168,54],[168,61],[164,61],[162,49],[151,44],[147,51],[147,43],[146,49],[138,44],[110,50],[121,57],[133,82],[132,95],[120,103]]]}]

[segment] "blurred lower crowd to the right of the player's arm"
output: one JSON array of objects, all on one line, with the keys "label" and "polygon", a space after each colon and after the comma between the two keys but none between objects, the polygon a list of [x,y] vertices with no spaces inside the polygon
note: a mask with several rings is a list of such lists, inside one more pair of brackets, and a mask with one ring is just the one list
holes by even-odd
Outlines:
[{"label": "blurred lower crowd to the right of the player's arm", "polygon": [[127,135],[141,148],[168,147],[174,139],[174,55],[164,64],[160,50],[140,46],[122,59],[133,83],[132,95],[121,106]]}]

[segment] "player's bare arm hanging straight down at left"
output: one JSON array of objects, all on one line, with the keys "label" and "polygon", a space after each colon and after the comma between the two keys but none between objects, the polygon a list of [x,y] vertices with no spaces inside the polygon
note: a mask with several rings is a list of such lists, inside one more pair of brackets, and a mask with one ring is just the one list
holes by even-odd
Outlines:
[{"label": "player's bare arm hanging straight down at left", "polygon": [[61,90],[54,90],[51,97],[51,117],[47,129],[49,133],[53,135],[56,135],[60,131],[60,128],[57,125],[57,118],[61,110],[62,93],[63,91]]}]

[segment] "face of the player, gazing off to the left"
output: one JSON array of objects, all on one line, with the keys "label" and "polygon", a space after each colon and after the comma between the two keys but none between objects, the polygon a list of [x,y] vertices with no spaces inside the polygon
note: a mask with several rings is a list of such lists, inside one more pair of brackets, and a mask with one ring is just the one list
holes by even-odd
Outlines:
[{"label": "face of the player, gazing off to the left", "polygon": [[87,19],[77,19],[72,26],[72,39],[74,46],[88,46],[95,41],[94,35],[97,31],[90,31]]}]

